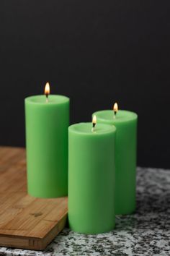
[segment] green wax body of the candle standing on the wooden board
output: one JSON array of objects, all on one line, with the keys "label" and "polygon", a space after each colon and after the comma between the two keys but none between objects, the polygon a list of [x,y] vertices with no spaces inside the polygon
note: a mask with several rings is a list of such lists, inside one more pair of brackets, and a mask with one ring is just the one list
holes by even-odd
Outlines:
[{"label": "green wax body of the candle standing on the wooden board", "polygon": [[34,197],[68,195],[69,98],[25,99],[27,189]]}]

